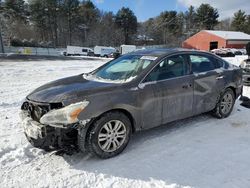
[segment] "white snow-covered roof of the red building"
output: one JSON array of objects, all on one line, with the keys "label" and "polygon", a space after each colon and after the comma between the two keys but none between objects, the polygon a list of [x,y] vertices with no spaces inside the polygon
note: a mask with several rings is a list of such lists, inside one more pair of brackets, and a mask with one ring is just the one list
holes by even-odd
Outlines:
[{"label": "white snow-covered roof of the red building", "polygon": [[226,40],[250,40],[250,35],[237,32],[237,31],[212,31],[212,30],[204,30],[210,34],[216,35],[218,37],[224,38]]}]

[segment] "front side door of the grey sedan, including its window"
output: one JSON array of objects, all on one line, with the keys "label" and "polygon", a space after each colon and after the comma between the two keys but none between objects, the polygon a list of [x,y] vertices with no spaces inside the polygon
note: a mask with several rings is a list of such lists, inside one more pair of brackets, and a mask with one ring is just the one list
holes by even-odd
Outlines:
[{"label": "front side door of the grey sedan, including its window", "polygon": [[157,101],[161,124],[192,115],[193,75],[189,70],[185,55],[173,55],[162,60],[144,80],[144,84],[154,87],[152,100],[154,104]]}]

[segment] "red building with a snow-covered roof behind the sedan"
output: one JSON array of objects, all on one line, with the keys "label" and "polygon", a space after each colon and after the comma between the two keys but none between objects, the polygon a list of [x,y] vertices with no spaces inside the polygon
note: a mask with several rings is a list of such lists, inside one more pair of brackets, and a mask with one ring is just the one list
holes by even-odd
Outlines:
[{"label": "red building with a snow-covered roof behind the sedan", "polygon": [[183,48],[213,50],[217,48],[245,48],[250,35],[235,31],[203,30],[182,43]]}]

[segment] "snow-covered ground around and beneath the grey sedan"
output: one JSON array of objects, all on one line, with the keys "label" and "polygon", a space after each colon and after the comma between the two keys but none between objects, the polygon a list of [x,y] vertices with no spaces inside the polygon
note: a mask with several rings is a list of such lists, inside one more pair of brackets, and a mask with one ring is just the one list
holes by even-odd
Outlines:
[{"label": "snow-covered ground around and beneath the grey sedan", "polygon": [[0,187],[250,187],[250,109],[239,101],[227,119],[205,114],[137,133],[112,159],[33,148],[19,123],[22,99],[105,61],[0,62]]}]

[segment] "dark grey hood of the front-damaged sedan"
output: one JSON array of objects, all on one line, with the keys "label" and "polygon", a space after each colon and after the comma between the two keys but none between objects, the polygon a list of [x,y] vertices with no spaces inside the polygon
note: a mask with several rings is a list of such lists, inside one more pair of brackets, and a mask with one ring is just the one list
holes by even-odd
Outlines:
[{"label": "dark grey hood of the front-damaged sedan", "polygon": [[27,98],[36,102],[56,103],[114,89],[117,85],[119,84],[89,81],[83,75],[77,75],[45,84],[31,92]]}]

